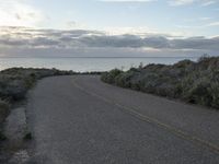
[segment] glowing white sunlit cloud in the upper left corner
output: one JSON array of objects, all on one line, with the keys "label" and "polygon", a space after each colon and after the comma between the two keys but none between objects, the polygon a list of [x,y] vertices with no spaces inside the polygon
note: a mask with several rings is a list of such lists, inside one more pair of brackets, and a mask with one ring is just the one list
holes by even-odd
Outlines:
[{"label": "glowing white sunlit cloud in the upper left corner", "polygon": [[0,0],[0,26],[35,26],[43,13],[25,0]]}]

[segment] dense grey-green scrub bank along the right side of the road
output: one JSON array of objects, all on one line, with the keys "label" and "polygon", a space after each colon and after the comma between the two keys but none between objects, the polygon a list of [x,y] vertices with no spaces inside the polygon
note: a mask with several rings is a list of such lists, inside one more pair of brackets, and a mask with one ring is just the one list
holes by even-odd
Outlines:
[{"label": "dense grey-green scrub bank along the right side of the road", "polygon": [[102,73],[102,81],[149,94],[219,109],[219,57],[148,65]]}]

